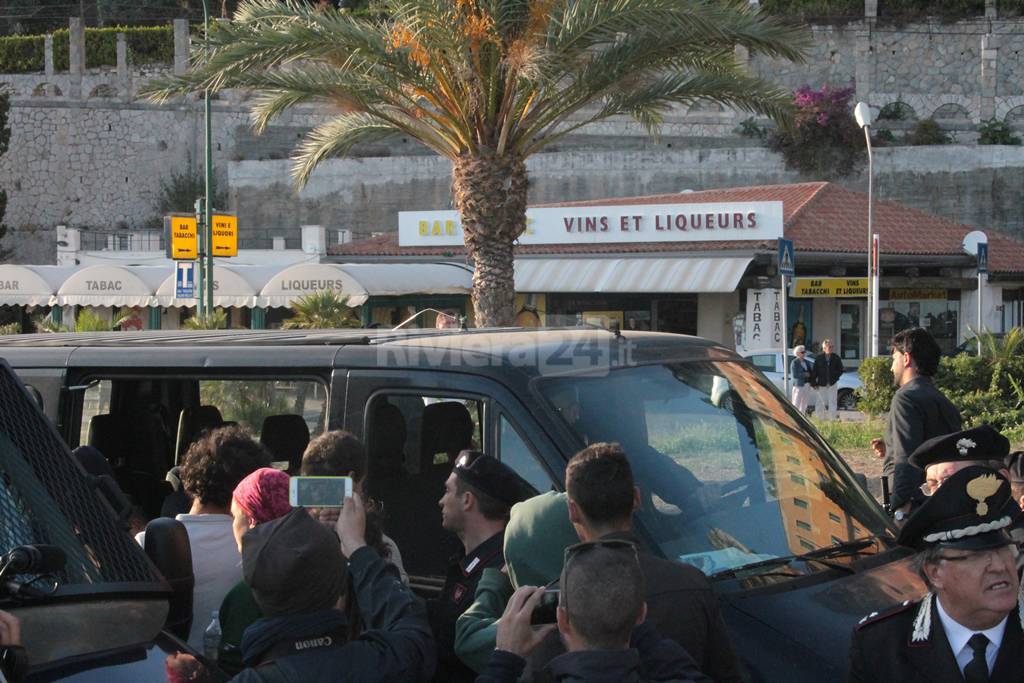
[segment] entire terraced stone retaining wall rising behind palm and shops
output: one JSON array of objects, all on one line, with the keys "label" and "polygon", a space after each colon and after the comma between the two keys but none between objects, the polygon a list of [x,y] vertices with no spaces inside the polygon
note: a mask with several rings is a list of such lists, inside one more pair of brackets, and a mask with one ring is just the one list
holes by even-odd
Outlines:
[{"label": "entire terraced stone retaining wall rising behind palm and shops", "polygon": [[[896,27],[868,16],[810,31],[804,63],[738,56],[787,89],[855,81],[858,98],[877,108],[902,101],[918,118],[936,117],[961,131],[959,141],[991,116],[1024,130],[1024,19]],[[49,58],[45,73],[0,75],[12,96],[11,145],[0,158],[11,227],[5,246],[17,250],[18,260],[37,260],[39,236],[58,223],[150,226],[158,218],[161,184],[174,173],[201,172],[202,103],[155,105],[137,94],[153,76],[186,68],[187,27],[176,32],[175,63],[164,69],[135,69],[122,55],[109,69],[73,59],[77,71],[54,73]],[[449,164],[401,138],[325,165],[297,195],[287,157],[327,115],[301,108],[256,137],[248,128],[247,93],[221,93],[213,109],[214,170],[221,187],[228,185],[228,208],[240,212],[245,247],[267,247],[276,236],[297,246],[303,223],[356,233],[393,229],[399,208],[450,204]],[[628,120],[593,125],[531,161],[531,201],[798,179],[774,155],[752,150],[757,142],[736,134],[746,116],[716,104],[678,108],[657,141]],[[934,166],[912,161],[926,157]],[[886,170],[884,159],[909,160],[906,173]],[[886,150],[879,168],[883,196],[980,227],[1022,229],[1017,203],[1024,147]]]}]

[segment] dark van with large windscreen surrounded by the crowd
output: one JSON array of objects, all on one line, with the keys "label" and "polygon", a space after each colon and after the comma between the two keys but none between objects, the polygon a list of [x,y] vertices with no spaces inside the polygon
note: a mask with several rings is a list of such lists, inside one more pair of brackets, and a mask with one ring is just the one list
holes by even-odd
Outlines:
[{"label": "dark van with large windscreen surrounded by the crowd", "polygon": [[283,467],[324,430],[355,433],[423,595],[439,590],[452,551],[437,500],[459,451],[494,454],[544,492],[562,488],[581,447],[618,441],[643,494],[641,537],[711,578],[752,681],[843,679],[853,625],[925,591],[838,454],[748,360],[706,340],[582,328],[96,333],[2,337],[0,356],[151,516],[203,429],[242,424]]}]

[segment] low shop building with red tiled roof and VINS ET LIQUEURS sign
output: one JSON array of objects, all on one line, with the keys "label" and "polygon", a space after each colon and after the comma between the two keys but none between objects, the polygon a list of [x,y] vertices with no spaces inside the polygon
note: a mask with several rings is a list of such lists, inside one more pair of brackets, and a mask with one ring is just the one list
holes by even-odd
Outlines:
[{"label": "low shop building with red tiled roof and VINS ET LIQUEURS sign", "polygon": [[[911,326],[951,351],[977,325],[975,228],[877,201],[880,348]],[[516,248],[520,325],[620,325],[694,334],[728,346],[782,345],[777,239],[794,242],[785,343],[837,343],[847,365],[869,351],[867,198],[828,182],[735,187],[534,207]],[[1022,324],[1024,243],[988,236],[982,322]],[[458,214],[412,211],[386,233],[330,250],[329,260],[465,262]]]}]

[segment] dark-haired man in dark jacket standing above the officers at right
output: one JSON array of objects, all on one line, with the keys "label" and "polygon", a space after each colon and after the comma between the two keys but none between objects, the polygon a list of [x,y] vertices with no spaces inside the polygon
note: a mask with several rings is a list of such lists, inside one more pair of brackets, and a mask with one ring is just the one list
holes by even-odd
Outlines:
[{"label": "dark-haired man in dark jacket standing above the officers at right", "polygon": [[925,498],[921,492],[925,473],[909,462],[910,454],[930,438],[959,431],[961,415],[932,382],[941,351],[927,330],[897,333],[892,348],[893,381],[899,388],[889,409],[885,436],[873,439],[871,446],[885,458],[882,475],[892,482],[889,508],[902,524],[911,505]]}]

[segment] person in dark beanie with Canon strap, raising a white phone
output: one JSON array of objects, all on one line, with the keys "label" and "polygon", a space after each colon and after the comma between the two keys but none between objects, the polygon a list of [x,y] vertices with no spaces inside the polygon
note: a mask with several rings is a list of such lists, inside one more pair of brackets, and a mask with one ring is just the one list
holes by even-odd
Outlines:
[{"label": "person in dark beanie with Canon strap, raising a white phone", "polygon": [[[232,681],[429,680],[435,655],[426,612],[397,569],[366,545],[358,495],[345,500],[336,529],[296,508],[243,537],[243,573],[265,616],[246,630],[250,669]],[[349,575],[354,595],[346,595]],[[357,637],[344,611],[353,599],[366,625]]]}]

